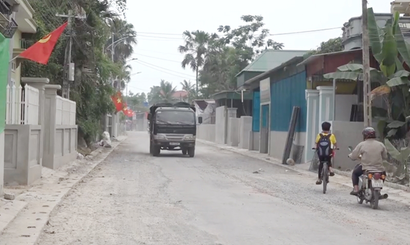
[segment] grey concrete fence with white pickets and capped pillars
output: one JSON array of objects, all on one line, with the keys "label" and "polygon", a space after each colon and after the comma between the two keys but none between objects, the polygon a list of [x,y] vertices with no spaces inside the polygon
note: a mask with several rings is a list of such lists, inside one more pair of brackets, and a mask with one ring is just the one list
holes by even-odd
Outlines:
[{"label": "grey concrete fence with white pickets and capped pillars", "polygon": [[7,91],[0,175],[9,185],[30,185],[40,179],[42,167],[56,169],[77,155],[75,102],[57,96],[61,87],[49,85],[47,78],[23,77],[22,83],[24,90],[9,87]]}]

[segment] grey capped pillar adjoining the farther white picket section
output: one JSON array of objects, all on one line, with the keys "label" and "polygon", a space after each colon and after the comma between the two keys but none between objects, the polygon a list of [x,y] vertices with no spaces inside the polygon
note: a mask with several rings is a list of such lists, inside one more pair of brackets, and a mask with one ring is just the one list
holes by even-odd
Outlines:
[{"label": "grey capped pillar adjoining the farther white picket section", "polygon": [[43,166],[54,169],[55,152],[55,112],[57,105],[57,90],[60,85],[45,86],[44,98],[44,130],[43,130]]}]

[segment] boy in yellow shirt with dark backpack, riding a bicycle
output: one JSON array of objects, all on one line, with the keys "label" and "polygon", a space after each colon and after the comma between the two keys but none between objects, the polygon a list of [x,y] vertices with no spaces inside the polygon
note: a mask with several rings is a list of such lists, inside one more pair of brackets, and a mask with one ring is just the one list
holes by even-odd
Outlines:
[{"label": "boy in yellow shirt with dark backpack, riding a bicycle", "polygon": [[332,124],[330,124],[329,122],[322,123],[322,132],[319,133],[316,137],[316,151],[319,157],[318,179],[316,181],[316,185],[322,184],[321,175],[323,162],[327,162],[327,166],[329,167],[329,175],[335,175],[332,168],[332,157],[334,156],[333,149],[337,148],[337,143],[335,135],[333,135],[333,133],[330,133],[331,126]]}]

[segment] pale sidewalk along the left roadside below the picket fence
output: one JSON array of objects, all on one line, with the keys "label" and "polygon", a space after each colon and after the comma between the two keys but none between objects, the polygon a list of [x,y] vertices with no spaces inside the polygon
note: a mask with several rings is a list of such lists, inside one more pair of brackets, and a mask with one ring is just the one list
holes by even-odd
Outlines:
[{"label": "pale sidewalk along the left roadside below the picket fence", "polygon": [[127,136],[120,136],[112,148],[98,148],[57,170],[43,168],[42,179],[31,187],[6,187],[5,192],[16,197],[13,201],[0,199],[0,245],[35,244],[61,199],[125,139]]}]

